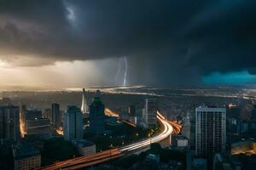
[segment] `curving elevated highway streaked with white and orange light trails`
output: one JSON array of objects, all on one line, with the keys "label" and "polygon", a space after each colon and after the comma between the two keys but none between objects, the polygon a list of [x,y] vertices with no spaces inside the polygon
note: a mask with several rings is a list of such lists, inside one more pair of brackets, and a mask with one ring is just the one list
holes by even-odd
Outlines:
[{"label": "curving elevated highway streaked with white and orange light trails", "polygon": [[157,134],[154,137],[151,137],[150,139],[144,139],[142,141],[138,141],[137,143],[129,144],[124,147],[115,148],[112,150],[105,150],[102,152],[98,152],[96,154],[92,154],[90,156],[80,156],[73,159],[69,159],[67,161],[59,161],[53,165],[41,167],[39,169],[79,169],[82,167],[89,167],[105,161],[109,161],[119,156],[124,156],[125,154],[130,153],[132,151],[142,150],[145,147],[148,147],[149,144],[151,143],[158,143],[166,138],[169,138],[169,136],[173,132],[172,125],[170,125],[170,123],[166,120],[164,116],[160,114],[160,112],[157,113],[157,119],[158,122],[160,123],[160,127],[162,127],[163,130],[161,133]]}]

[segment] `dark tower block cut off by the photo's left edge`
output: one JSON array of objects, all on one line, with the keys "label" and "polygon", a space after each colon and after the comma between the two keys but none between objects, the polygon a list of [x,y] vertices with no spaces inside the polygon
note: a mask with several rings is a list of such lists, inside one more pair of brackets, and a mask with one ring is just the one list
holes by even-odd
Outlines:
[{"label": "dark tower block cut off by the photo's left edge", "polygon": [[17,141],[20,138],[20,108],[19,106],[0,107],[0,139]]}]

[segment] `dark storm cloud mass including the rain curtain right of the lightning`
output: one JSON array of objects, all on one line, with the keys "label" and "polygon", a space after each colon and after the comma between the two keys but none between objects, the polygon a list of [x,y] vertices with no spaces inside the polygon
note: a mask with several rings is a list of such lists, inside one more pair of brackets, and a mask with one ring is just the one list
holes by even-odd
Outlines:
[{"label": "dark storm cloud mass including the rain curtain right of the lightning", "polygon": [[1,56],[47,64],[125,55],[130,82],[149,84],[197,82],[212,71],[255,73],[254,2],[2,0]]}]

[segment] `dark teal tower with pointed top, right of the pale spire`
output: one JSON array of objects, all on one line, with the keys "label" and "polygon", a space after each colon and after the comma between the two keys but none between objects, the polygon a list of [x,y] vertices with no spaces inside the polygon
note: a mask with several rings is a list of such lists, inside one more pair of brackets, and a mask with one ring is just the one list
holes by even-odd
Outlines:
[{"label": "dark teal tower with pointed top, right of the pale spire", "polygon": [[90,105],[90,128],[89,132],[94,134],[102,134],[105,131],[105,105],[102,104],[100,92]]}]

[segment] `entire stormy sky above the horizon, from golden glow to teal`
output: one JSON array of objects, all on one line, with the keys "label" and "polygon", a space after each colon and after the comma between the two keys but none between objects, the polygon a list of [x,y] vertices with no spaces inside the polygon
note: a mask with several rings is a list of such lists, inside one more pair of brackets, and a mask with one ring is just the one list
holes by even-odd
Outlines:
[{"label": "entire stormy sky above the horizon, from golden glow to teal", "polygon": [[0,0],[0,85],[256,83],[255,0]]}]

